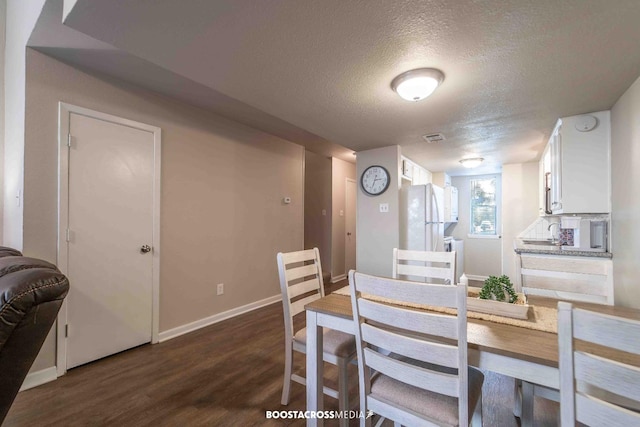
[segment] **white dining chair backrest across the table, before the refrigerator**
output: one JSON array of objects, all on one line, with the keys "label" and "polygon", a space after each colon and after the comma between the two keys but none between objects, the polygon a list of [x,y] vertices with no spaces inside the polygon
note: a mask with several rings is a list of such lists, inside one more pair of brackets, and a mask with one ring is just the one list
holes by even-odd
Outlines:
[{"label": "white dining chair backrest across the table, before the refrigerator", "polygon": [[456,283],[456,253],[393,248],[393,278],[428,283]]}]

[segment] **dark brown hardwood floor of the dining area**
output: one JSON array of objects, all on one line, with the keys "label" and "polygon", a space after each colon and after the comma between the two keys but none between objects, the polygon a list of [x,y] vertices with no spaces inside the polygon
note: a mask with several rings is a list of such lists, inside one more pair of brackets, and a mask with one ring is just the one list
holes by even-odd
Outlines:
[{"label": "dark brown hardwood floor of the dining area", "polygon": [[[327,292],[344,285],[328,284]],[[295,363],[302,374],[304,356],[296,354]],[[272,304],[71,369],[20,393],[3,426],[304,425],[302,420],[265,419],[268,410],[305,409],[304,387],[296,383],[289,405],[280,405],[283,369],[282,305]],[[331,365],[325,372],[327,378],[336,377]],[[355,403],[355,366],[351,373]],[[519,426],[511,412],[512,379],[486,373],[483,402],[485,426]],[[337,402],[326,398],[325,409],[337,410]],[[536,426],[555,426],[557,413],[556,403],[536,398]]]}]

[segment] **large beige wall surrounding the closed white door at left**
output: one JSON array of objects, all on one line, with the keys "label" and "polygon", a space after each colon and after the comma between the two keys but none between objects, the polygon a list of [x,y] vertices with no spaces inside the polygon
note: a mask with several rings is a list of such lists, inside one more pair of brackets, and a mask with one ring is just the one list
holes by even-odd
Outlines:
[{"label": "large beige wall surrounding the closed white door at left", "polygon": [[[56,260],[59,101],[162,129],[161,332],[279,294],[276,253],[303,247],[301,146],[31,49],[27,255]],[[224,296],[216,296],[217,283]],[[43,352],[51,358],[54,348]]]}]

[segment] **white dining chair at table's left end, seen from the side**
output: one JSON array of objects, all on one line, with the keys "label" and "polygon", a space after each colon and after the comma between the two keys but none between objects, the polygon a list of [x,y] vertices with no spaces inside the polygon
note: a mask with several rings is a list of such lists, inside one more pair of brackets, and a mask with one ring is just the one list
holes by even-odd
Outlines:
[{"label": "white dining chair at table's left end, seen from the side", "polygon": [[[278,253],[278,272],[282,291],[285,326],[285,368],[282,404],[289,404],[291,381],[306,384],[304,377],[293,373],[293,352],[306,354],[307,329],[295,331],[293,319],[304,312],[304,306],[324,297],[324,282],[318,248]],[[353,335],[333,329],[324,329],[324,361],[338,367],[338,390],[328,387],[324,393],[338,399],[341,411],[349,409],[347,368],[356,357]],[[346,419],[344,419],[346,420]],[[343,420],[341,420],[343,422]]]}]

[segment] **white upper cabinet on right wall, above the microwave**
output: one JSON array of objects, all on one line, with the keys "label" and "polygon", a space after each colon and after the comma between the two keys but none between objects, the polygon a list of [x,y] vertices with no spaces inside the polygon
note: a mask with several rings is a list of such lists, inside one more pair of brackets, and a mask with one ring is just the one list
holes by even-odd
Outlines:
[{"label": "white upper cabinet on right wall, above the microwave", "polygon": [[609,111],[559,119],[548,150],[553,214],[611,212]]}]

